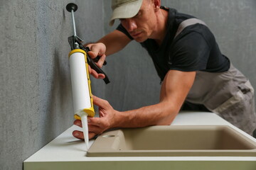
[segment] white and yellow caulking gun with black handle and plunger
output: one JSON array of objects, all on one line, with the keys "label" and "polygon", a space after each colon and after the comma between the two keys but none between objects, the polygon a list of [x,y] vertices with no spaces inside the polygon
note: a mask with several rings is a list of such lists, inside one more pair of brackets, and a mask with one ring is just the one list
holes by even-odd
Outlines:
[{"label": "white and yellow caulking gun with black handle and plunger", "polygon": [[[90,51],[89,47],[84,47],[82,45],[82,40],[76,35],[75,30],[75,17],[74,12],[77,11],[78,6],[76,4],[70,3],[66,6],[67,11],[71,13],[74,35],[68,38],[68,42],[71,47],[71,52],[69,53],[70,61],[70,76],[73,92],[73,107],[75,112],[75,119],[82,120],[82,130],[85,137],[85,143],[88,149],[88,125],[87,116],[93,117],[95,111],[93,108],[92,101],[92,91],[90,86],[90,77],[88,72],[88,64],[92,69],[95,69],[97,73],[105,74],[99,67],[97,67],[97,56],[94,60],[88,55]],[[105,62],[105,64],[107,64]],[[107,75],[105,74],[105,84],[110,83]]]}]

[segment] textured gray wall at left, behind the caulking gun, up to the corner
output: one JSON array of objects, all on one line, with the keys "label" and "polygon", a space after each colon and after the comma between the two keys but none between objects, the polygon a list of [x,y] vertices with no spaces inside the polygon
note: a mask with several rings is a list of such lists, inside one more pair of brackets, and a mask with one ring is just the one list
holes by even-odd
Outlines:
[{"label": "textured gray wall at left, behind the caulking gun, up to the corner", "polygon": [[[23,169],[24,159],[73,125],[69,2],[1,1],[1,170]],[[75,2],[81,38],[98,39],[102,1]]]}]

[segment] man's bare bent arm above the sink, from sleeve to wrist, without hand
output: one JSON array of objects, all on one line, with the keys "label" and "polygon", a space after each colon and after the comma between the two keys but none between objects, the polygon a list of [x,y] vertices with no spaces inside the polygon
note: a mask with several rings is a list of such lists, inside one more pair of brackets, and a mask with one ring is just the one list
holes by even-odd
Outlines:
[{"label": "man's bare bent arm above the sink, from sleeve to wrist, without hand", "polygon": [[193,85],[196,72],[170,70],[161,85],[159,103],[117,114],[113,128],[141,128],[149,125],[170,125]]}]

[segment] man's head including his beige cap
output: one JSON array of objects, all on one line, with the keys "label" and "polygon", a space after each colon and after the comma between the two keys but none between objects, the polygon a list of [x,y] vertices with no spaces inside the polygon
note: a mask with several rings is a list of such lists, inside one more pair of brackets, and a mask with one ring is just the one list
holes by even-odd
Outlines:
[{"label": "man's head including his beige cap", "polygon": [[160,0],[112,0],[110,26],[119,19],[134,40],[143,42],[156,31],[159,8]]}]

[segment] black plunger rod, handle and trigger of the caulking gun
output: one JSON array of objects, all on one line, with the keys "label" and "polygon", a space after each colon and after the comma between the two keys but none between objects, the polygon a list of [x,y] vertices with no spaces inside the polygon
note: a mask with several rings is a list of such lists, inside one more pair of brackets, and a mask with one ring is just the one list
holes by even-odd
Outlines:
[{"label": "black plunger rod, handle and trigger of the caulking gun", "polygon": [[[100,67],[98,67],[97,64],[95,64],[95,62],[97,62],[100,59],[100,56],[97,56],[95,59],[92,60],[90,55],[88,55],[90,48],[84,47],[82,45],[83,40],[81,38],[79,38],[78,35],[76,35],[74,12],[77,11],[78,6],[76,4],[70,3],[66,6],[66,9],[67,9],[67,11],[69,11],[71,13],[72,22],[73,22],[74,35],[72,35],[68,38],[68,42],[70,44],[71,50],[75,50],[75,49],[84,50],[87,53],[87,62],[90,65],[90,67],[92,69],[94,69],[98,74],[104,74],[105,79],[103,79],[103,80],[105,81],[105,84],[109,84],[110,80],[108,79],[107,74],[105,74],[105,72],[103,72],[102,69],[100,69]],[[105,65],[105,64],[107,64],[107,62],[104,62],[103,65]]]}]

